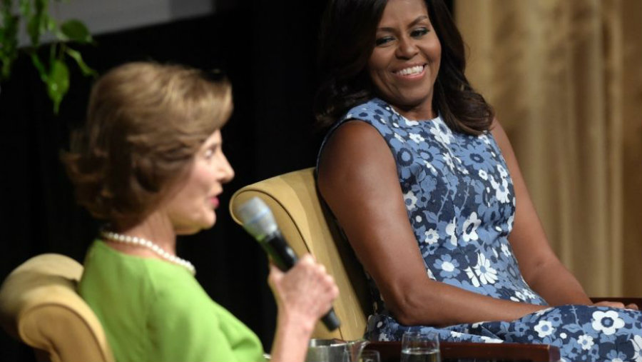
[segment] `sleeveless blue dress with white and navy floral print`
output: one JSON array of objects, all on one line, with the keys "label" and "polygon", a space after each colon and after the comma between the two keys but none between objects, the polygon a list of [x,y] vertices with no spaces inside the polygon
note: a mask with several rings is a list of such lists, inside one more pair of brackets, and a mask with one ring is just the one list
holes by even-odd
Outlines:
[{"label": "sleeveless blue dress with white and navy floral print", "polygon": [[[508,167],[490,132],[460,134],[439,117],[411,121],[384,101],[372,99],[351,109],[328,136],[355,120],[377,129],[392,151],[429,278],[485,296],[546,305],[522,278],[508,241],[515,195]],[[370,340],[400,340],[404,331],[419,329],[437,331],[442,341],[552,344],[560,348],[565,361],[642,362],[640,311],[569,305],[511,322],[403,326],[374,282],[370,284],[374,314],[365,333]]]}]

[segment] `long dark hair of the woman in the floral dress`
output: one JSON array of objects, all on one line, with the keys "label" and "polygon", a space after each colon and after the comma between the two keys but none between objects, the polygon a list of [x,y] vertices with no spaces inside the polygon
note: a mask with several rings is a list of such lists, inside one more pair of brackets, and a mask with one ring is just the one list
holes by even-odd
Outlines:
[{"label": "long dark hair of the woman in the floral dress", "polygon": [[[367,62],[387,0],[330,0],[321,23],[315,117],[320,129],[352,107],[372,98]],[[464,41],[442,0],[426,0],[428,16],[442,45],[434,84],[433,109],[454,130],[481,134],[490,128],[494,110],[464,76]]]}]

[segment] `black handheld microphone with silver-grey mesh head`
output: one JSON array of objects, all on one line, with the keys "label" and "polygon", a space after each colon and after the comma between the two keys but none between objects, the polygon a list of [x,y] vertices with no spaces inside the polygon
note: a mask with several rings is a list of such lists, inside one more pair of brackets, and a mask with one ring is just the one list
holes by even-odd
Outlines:
[{"label": "black handheld microphone with silver-grey mesh head", "polygon": [[[258,241],[277,268],[281,271],[288,271],[297,263],[299,260],[297,254],[281,235],[274,215],[265,202],[258,197],[250,198],[237,209],[237,213],[245,231],[248,231]],[[321,321],[328,331],[334,331],[341,324],[334,308],[330,308]]]}]

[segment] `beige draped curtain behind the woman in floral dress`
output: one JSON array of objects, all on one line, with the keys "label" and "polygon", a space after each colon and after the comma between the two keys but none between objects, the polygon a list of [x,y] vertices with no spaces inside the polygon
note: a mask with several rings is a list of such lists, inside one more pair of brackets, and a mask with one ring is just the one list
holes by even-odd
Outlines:
[{"label": "beige draped curtain behind the woman in floral dress", "polygon": [[590,296],[642,296],[642,1],[458,0],[467,76]]}]

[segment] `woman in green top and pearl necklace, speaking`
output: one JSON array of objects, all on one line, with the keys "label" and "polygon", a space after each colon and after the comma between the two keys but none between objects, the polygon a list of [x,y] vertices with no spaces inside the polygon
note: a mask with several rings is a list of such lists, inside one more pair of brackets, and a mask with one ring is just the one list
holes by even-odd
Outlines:
[{"label": "woman in green top and pearl necklace, speaking", "polygon": [[[176,236],[211,228],[234,171],[220,128],[231,87],[196,69],[139,62],[93,86],[87,124],[63,156],[78,202],[107,223],[88,250],[79,291],[116,361],[260,361],[258,337],[212,301]],[[268,279],[277,301],[273,361],[303,361],[338,290],[304,256]],[[286,348],[287,343],[287,348]]]}]

